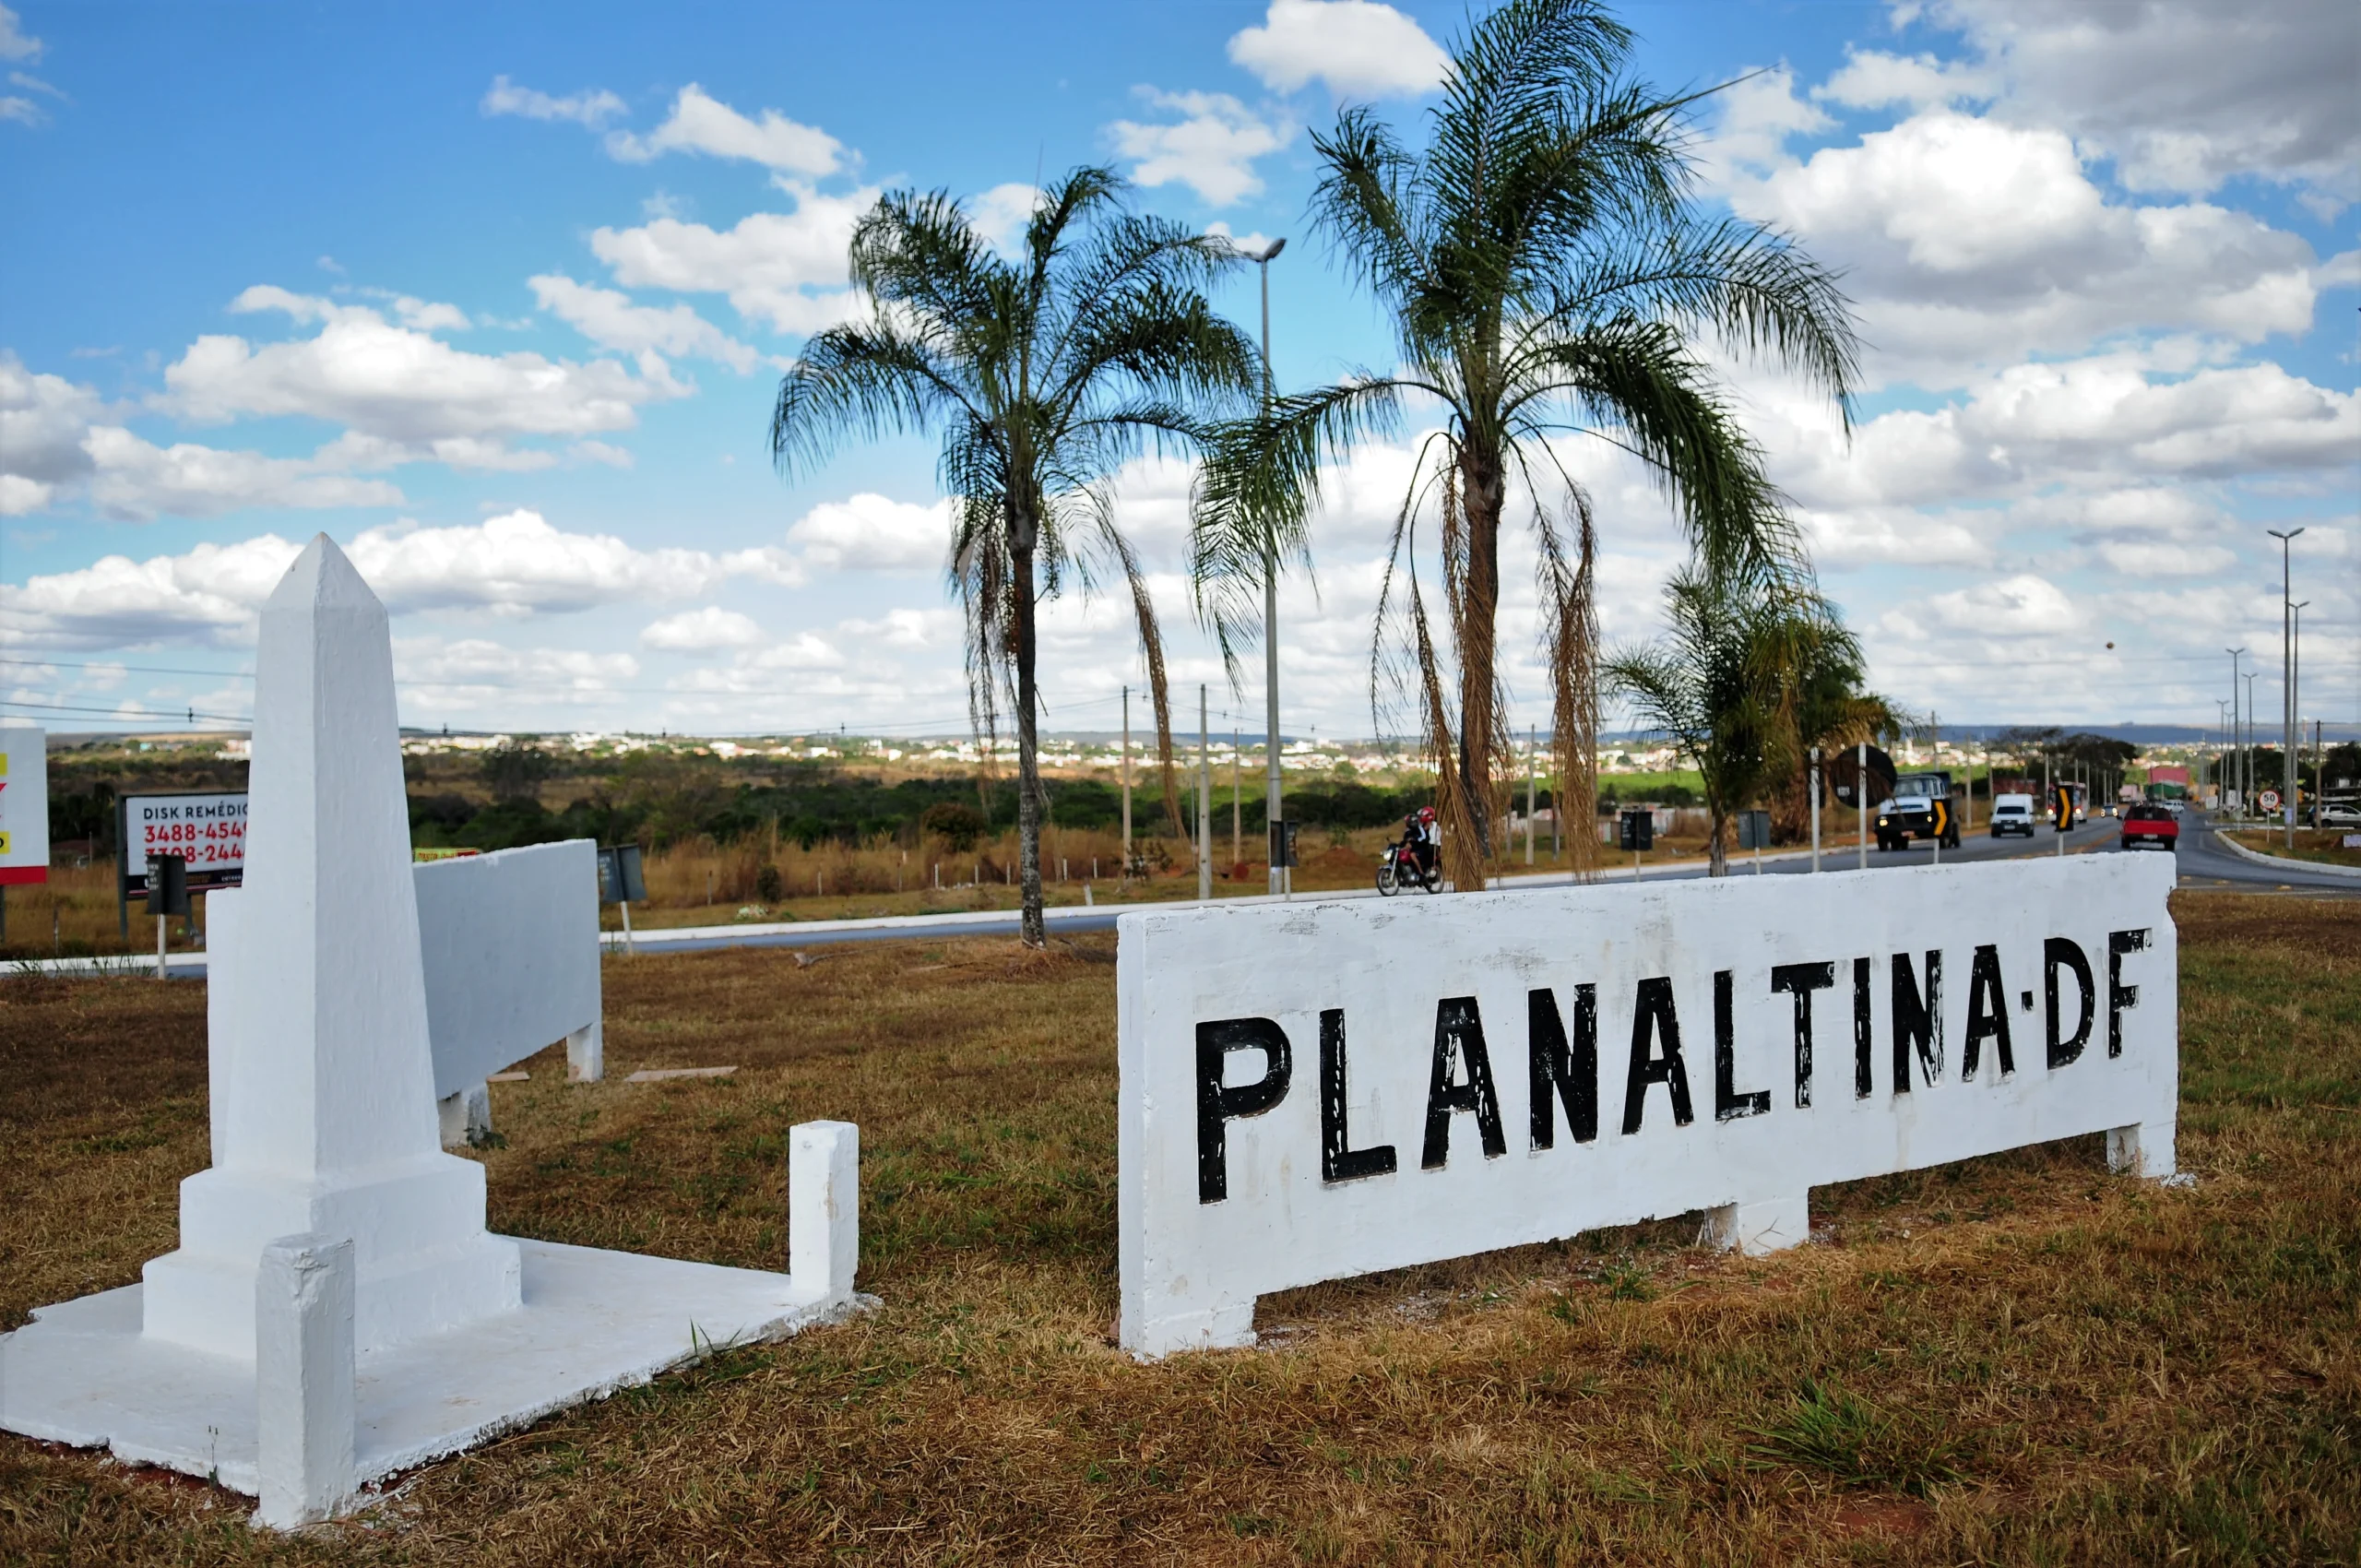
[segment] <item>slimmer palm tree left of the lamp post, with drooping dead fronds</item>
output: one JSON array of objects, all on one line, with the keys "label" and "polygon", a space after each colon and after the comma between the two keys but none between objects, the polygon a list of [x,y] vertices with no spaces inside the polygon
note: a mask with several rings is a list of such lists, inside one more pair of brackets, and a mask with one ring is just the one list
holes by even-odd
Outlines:
[{"label": "slimmer palm tree left of the lamp post, with drooping dead fronds", "polygon": [[1046,189],[1013,257],[944,191],[890,191],[852,234],[871,316],[817,333],[779,380],[770,451],[817,465],[848,435],[940,432],[954,503],[949,579],[968,621],[968,694],[982,732],[1018,725],[1025,942],[1041,926],[1036,635],[1041,600],[1119,574],[1157,701],[1166,810],[1171,720],[1155,605],[1110,484],[1145,446],[1190,446],[1209,413],[1256,387],[1254,342],[1204,286],[1237,264],[1223,239],[1133,215],[1124,182],[1079,168]]}]

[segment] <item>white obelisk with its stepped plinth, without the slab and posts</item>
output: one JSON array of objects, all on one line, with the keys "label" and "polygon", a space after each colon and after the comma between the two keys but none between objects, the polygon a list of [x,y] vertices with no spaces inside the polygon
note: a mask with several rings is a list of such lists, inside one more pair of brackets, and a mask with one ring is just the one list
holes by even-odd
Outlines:
[{"label": "white obelisk with its stepped plinth, without the slab and posts", "polygon": [[281,1235],[352,1237],[354,1348],[519,1304],[484,1167],[442,1152],[385,605],[321,534],[262,607],[246,886],[212,895],[212,1169],[144,1332],[253,1358]]}]

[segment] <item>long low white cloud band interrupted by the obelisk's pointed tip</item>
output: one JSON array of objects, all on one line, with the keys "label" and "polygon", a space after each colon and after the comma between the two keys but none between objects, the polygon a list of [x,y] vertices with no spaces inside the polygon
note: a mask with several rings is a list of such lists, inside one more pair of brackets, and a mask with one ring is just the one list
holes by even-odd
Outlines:
[{"label": "long low white cloud band interrupted by the obelisk's pointed tip", "polygon": [[[260,534],[144,562],[109,555],[78,571],[0,583],[0,623],[28,647],[248,642],[262,600],[295,553],[295,543]],[[786,550],[640,550],[611,534],[562,531],[529,510],[472,527],[366,529],[347,555],[394,614],[456,609],[522,619],[682,600],[739,576],[803,581]]]}]

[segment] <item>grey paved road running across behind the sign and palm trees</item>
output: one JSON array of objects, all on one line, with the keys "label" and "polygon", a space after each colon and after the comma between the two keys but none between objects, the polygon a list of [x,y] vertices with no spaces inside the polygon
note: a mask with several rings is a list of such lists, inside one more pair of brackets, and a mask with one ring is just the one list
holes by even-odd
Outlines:
[{"label": "grey paved road running across behind the sign and palm trees", "polygon": [[[2120,822],[2101,817],[2097,822],[2085,822],[2073,834],[2066,836],[2066,852],[2080,855],[2153,855],[2156,850],[2118,850],[2118,836],[2123,831]],[[2030,841],[2028,838],[1993,838],[1990,834],[1967,836],[1957,850],[1943,850],[1945,862],[1988,862],[1988,860],[2026,860],[2030,855],[2056,855],[2056,834],[2042,829]],[[2330,895],[2330,897],[2361,897],[2361,878],[2333,876],[2328,871],[2307,871],[2302,862],[2285,862],[2285,867],[2267,867],[2252,860],[2243,860],[2231,850],[2224,850],[2215,841],[2212,822],[2189,812],[2182,817],[2182,848],[2179,857],[2179,886],[2191,890],[2231,890],[2231,893],[2300,893],[2307,897]],[[1875,841],[1870,841],[1868,857],[1858,850],[1858,843],[1823,843],[1820,845],[1820,869],[1825,871],[1851,871],[1860,864],[1877,871],[1884,867],[1919,867],[1934,860],[1934,845],[1915,843],[1908,850],[1882,852]],[[1731,857],[1733,876],[1754,876],[1754,857],[1735,855]],[[1811,874],[1809,850],[1785,850],[1778,855],[1761,857],[1761,876],[1797,876]],[[1643,881],[1686,881],[1705,876],[1705,862],[1686,862],[1669,867],[1646,867]],[[1608,867],[1603,883],[1617,886],[1631,878],[1629,869],[1617,871]],[[1495,883],[1502,890],[1516,888],[1563,888],[1563,874],[1535,874],[1535,876],[1504,876]],[[1348,888],[1339,893],[1315,893],[1301,895],[1303,900],[1339,900],[1339,897],[1376,897],[1376,888]],[[1402,895],[1424,897],[1424,895]],[[1190,900],[1195,902],[1195,900]],[[1164,902],[1164,904],[1062,904],[1046,909],[1051,935],[1081,935],[1088,930],[1114,930],[1114,921],[1124,909],[1185,909],[1190,902]],[[1223,904],[1268,904],[1270,897],[1225,897]],[[947,937],[999,937],[1018,933],[1018,914],[1013,909],[985,909],[968,914],[918,914],[902,919],[874,919],[874,921],[796,921],[774,926],[699,926],[699,928],[656,928],[642,930],[637,935],[637,949],[645,954],[666,952],[713,952],[720,947],[836,947],[843,942],[923,942],[923,940],[947,940]],[[602,933],[609,952],[621,949],[621,933]],[[111,959],[109,966],[144,963]],[[87,959],[64,959],[42,961],[38,968],[78,971],[87,968]],[[175,980],[201,980],[205,975],[203,954],[172,954],[170,975]]]}]

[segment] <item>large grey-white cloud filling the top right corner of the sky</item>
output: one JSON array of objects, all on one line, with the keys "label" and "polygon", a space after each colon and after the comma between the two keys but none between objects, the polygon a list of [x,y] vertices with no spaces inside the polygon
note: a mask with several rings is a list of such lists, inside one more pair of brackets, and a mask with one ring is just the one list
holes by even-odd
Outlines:
[{"label": "large grey-white cloud filling the top right corner of the sky", "polygon": [[2064,128],[2134,191],[2238,175],[2361,198],[2352,0],[1938,0],[2009,83],[1997,113]]}]

